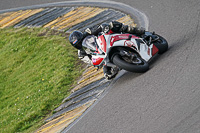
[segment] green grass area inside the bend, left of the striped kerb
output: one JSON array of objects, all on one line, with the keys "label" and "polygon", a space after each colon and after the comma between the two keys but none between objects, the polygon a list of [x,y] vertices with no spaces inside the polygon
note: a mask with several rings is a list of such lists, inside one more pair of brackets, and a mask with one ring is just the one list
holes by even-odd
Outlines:
[{"label": "green grass area inside the bend, left of the striped kerb", "polygon": [[0,30],[0,132],[33,132],[83,71],[64,33]]}]

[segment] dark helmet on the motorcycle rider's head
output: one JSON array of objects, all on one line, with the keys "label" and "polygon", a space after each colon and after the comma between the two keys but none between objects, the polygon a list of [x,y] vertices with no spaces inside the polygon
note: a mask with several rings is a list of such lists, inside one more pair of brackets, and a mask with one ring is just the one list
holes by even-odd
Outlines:
[{"label": "dark helmet on the motorcycle rider's head", "polygon": [[83,33],[80,31],[73,31],[69,35],[69,42],[71,43],[72,46],[74,46],[77,49],[82,48],[82,39],[83,39]]}]

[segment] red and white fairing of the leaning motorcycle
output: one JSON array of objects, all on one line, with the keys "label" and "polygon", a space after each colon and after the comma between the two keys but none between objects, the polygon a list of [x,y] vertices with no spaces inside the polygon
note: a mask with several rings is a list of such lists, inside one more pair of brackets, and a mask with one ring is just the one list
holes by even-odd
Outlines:
[{"label": "red and white fairing of the leaning motorcycle", "polygon": [[[90,36],[84,39],[83,45],[95,50],[96,55],[92,55],[92,62],[95,66],[100,65],[104,61],[111,47],[131,47],[137,51],[145,61],[149,61],[158,52],[155,45],[151,44],[148,46],[143,39],[131,34],[104,34],[98,38]],[[102,55],[102,53],[104,54]]]}]

